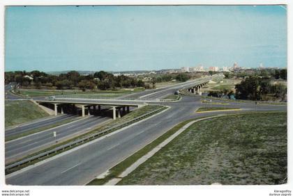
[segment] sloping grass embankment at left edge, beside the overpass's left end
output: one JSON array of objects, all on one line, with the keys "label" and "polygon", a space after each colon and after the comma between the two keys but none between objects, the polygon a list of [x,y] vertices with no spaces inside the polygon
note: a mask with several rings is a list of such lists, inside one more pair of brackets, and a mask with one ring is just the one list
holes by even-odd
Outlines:
[{"label": "sloping grass embankment at left edge, beside the overpass's left end", "polygon": [[31,101],[5,101],[5,127],[49,116]]}]

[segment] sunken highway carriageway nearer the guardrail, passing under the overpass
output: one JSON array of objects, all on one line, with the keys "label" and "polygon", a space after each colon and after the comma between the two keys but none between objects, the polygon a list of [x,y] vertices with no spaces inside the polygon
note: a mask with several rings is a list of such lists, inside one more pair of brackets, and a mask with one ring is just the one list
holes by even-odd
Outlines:
[{"label": "sunken highway carriageway nearer the guardrail, passing under the overpass", "polygon": [[[65,138],[85,133],[106,120],[110,120],[110,118],[91,116],[6,142],[6,163],[27,156],[33,152],[38,152],[45,147],[50,147],[51,145],[54,145],[56,141],[60,142]],[[53,137],[54,132],[57,133],[56,138]]]}]

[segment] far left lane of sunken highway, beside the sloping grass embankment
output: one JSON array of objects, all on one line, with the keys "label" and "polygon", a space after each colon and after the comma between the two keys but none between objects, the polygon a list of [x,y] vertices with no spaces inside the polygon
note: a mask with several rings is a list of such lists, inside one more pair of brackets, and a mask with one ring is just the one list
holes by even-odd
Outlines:
[{"label": "far left lane of sunken highway, beside the sloping grass embankment", "polygon": [[50,118],[43,118],[36,120],[31,123],[23,124],[20,126],[16,126],[13,129],[6,129],[5,131],[5,137],[8,136],[15,136],[20,133],[25,133],[27,131],[31,131],[32,129],[38,129],[42,126],[48,126],[52,124],[56,124],[57,122],[62,122],[64,120],[69,120],[77,117],[77,115],[71,115],[71,114],[65,114],[65,115],[59,115],[56,117],[50,117]]}]

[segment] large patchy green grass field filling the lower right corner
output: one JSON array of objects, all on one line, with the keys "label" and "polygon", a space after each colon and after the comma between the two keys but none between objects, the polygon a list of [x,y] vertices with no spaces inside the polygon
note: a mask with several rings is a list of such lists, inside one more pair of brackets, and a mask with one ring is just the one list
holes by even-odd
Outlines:
[{"label": "large patchy green grass field filling the lower right corner", "polygon": [[251,113],[191,125],[121,185],[287,182],[287,114]]}]

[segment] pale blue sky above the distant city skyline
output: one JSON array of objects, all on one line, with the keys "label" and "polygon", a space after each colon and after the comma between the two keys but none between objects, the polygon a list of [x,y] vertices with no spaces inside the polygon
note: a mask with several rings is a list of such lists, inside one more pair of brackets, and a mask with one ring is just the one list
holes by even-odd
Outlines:
[{"label": "pale blue sky above the distant city skyline", "polygon": [[287,66],[284,6],[7,7],[6,71]]}]

